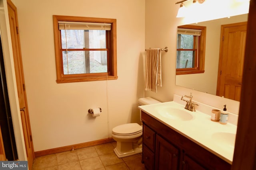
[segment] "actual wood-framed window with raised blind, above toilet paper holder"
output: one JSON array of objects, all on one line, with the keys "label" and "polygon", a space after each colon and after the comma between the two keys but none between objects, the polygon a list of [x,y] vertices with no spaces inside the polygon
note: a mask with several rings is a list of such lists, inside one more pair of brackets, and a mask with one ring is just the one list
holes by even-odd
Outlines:
[{"label": "actual wood-framed window with raised blind, above toilet paper holder", "polygon": [[115,80],[116,19],[53,16],[57,83]]}]

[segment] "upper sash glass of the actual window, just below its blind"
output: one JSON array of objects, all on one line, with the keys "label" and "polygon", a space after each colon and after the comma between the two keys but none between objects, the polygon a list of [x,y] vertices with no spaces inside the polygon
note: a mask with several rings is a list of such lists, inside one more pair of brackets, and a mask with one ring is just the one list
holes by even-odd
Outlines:
[{"label": "upper sash glass of the actual window, just below its blind", "polygon": [[62,49],[105,49],[105,30],[61,30]]}]

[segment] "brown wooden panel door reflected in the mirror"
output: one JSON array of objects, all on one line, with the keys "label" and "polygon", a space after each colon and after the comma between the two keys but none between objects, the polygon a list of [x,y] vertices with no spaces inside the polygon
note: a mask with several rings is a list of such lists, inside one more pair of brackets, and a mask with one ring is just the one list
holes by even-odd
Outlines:
[{"label": "brown wooden panel door reflected in the mirror", "polygon": [[222,25],[217,92],[240,101],[247,22]]}]

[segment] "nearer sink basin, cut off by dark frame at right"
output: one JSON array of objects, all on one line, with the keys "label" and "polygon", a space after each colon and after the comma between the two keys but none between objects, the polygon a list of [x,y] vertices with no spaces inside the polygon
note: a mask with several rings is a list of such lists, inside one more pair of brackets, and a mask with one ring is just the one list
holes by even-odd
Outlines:
[{"label": "nearer sink basin, cut off by dark frame at right", "polygon": [[234,150],[236,134],[228,132],[217,132],[212,134],[212,138],[217,142],[220,147],[226,150]]}]

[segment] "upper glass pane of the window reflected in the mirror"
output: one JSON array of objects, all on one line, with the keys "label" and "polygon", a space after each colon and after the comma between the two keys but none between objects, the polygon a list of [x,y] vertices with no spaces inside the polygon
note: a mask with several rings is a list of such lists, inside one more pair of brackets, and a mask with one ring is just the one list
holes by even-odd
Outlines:
[{"label": "upper glass pane of the window reflected in the mirror", "polygon": [[194,35],[178,34],[177,49],[193,49]]}]

